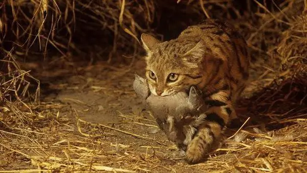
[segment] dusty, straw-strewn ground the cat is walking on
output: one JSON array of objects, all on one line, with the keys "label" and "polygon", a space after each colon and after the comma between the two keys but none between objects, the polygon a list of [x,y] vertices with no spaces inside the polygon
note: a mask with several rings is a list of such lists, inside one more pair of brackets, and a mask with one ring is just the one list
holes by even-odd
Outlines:
[{"label": "dusty, straw-strewn ground the cat is walking on", "polygon": [[[98,62],[85,68],[59,68],[66,69],[62,71],[54,70],[50,64],[39,66],[40,70],[36,67],[33,74],[41,79],[41,104],[32,106],[34,114],[29,115],[36,117],[31,117],[25,125],[6,129],[0,124],[1,135],[5,135],[0,142],[3,150],[0,172],[17,169],[27,172],[38,169],[53,172],[303,171],[305,155],[296,152],[305,151],[307,145],[306,133],[302,131],[306,126],[300,123],[306,120],[303,93],[289,94],[287,87],[256,91],[273,81],[272,74],[265,73],[264,63],[261,66],[258,63],[253,65],[245,99],[238,104],[239,116],[243,121],[251,117],[245,127],[257,124],[261,129],[266,123],[277,137],[255,129],[247,131],[255,127],[249,126],[244,128],[245,135],[226,141],[206,162],[196,165],[184,162],[153,118],[142,109],[132,83],[135,72],[144,77],[143,61],[119,67]],[[266,75],[257,74],[259,71]],[[258,94],[252,97],[253,92]],[[282,100],[285,97],[288,101]],[[296,104],[298,99],[301,104]],[[29,112],[26,107],[21,110],[23,114]],[[289,120],[290,112],[297,119]],[[298,124],[287,126],[291,125],[289,122]],[[227,132],[229,137],[236,129]],[[281,168],[285,165],[286,168]]]}]

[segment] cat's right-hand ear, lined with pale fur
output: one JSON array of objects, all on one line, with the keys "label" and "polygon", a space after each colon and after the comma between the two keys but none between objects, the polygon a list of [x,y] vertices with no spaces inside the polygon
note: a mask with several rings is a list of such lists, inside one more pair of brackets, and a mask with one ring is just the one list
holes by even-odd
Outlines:
[{"label": "cat's right-hand ear, lined with pale fur", "polygon": [[199,41],[192,49],[188,50],[183,55],[183,60],[188,63],[200,63],[205,56],[205,43],[203,40]]}]

